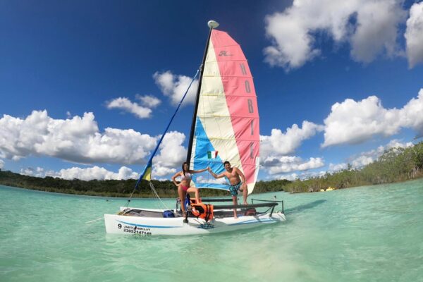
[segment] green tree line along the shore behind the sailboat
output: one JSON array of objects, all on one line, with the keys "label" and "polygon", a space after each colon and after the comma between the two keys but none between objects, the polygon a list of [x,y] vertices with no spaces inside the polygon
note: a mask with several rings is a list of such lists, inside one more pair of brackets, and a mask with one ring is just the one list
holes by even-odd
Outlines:
[{"label": "green tree line along the shore behind the sailboat", "polygon": [[[393,183],[423,176],[423,142],[407,148],[391,148],[379,159],[362,168],[347,168],[326,173],[324,176],[308,178],[306,180],[270,180],[258,181],[255,192],[317,192],[332,187],[337,189]],[[129,197],[133,192],[137,180],[65,180],[50,176],[38,178],[23,176],[11,171],[0,170],[0,184],[47,192],[61,192],[76,195],[93,195],[104,197]],[[170,180],[152,180],[160,197],[178,197],[175,185]],[[202,189],[202,197],[227,196],[224,190]],[[142,180],[133,197],[154,197],[149,183]]]}]

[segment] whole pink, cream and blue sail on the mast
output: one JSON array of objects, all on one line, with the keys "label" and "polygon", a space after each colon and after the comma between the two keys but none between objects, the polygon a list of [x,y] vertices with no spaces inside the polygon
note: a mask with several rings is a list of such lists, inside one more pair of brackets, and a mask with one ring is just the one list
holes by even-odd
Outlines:
[{"label": "whole pink, cream and blue sail on the mast", "polygon": [[[226,32],[212,30],[201,79],[190,167],[219,174],[229,161],[244,173],[250,193],[259,172],[257,97],[247,59]],[[228,190],[211,176],[193,180],[198,188]]]}]

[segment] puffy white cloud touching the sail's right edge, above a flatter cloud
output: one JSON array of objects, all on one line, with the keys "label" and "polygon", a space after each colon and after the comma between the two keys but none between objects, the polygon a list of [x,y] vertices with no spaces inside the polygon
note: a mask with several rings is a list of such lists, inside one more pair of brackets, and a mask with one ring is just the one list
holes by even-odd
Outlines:
[{"label": "puffy white cloud touching the sail's right edge, above a flatter cloud", "polygon": [[260,144],[260,158],[266,159],[267,157],[292,154],[295,152],[295,149],[300,147],[302,141],[309,139],[323,129],[323,125],[317,125],[309,121],[303,121],[302,128],[293,124],[291,128],[286,129],[286,133],[282,133],[280,129],[274,128],[271,130],[270,136],[260,136],[262,140]]}]

